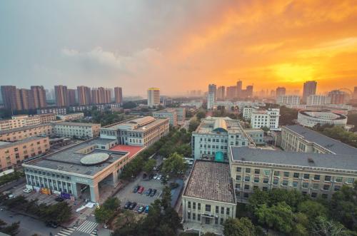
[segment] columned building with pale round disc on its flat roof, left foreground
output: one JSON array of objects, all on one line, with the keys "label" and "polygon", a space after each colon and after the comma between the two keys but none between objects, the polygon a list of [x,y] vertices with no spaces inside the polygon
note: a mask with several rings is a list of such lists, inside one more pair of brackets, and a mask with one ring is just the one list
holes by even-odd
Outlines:
[{"label": "columned building with pale round disc on its flat roof, left foreground", "polygon": [[124,166],[144,150],[115,143],[94,138],[24,163],[26,188],[99,202],[102,187],[115,187]]}]

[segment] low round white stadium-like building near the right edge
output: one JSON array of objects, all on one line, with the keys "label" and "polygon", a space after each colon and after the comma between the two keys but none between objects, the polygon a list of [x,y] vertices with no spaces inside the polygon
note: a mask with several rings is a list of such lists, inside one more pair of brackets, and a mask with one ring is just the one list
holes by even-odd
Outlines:
[{"label": "low round white stadium-like building near the right edge", "polygon": [[304,126],[313,127],[320,125],[341,125],[346,126],[347,116],[331,111],[299,111],[298,123]]}]

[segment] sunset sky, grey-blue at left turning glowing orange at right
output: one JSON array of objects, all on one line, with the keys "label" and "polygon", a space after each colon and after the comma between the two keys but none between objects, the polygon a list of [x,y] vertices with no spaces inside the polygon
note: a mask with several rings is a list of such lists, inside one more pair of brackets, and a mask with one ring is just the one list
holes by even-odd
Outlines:
[{"label": "sunset sky, grey-blue at left turning glowing orange at right", "polygon": [[208,83],[318,93],[357,86],[357,4],[343,0],[0,1],[0,85]]}]

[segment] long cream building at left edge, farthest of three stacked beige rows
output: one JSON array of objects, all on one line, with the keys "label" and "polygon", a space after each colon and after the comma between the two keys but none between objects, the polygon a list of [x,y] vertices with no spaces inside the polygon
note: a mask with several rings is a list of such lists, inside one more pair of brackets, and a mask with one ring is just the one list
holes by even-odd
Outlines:
[{"label": "long cream building at left edge, farthest of three stacked beige rows", "polygon": [[52,120],[56,120],[54,114],[44,114],[44,115],[19,115],[12,116],[8,120],[0,120],[0,130],[11,130],[13,128],[21,128],[30,125],[39,125],[43,123],[49,123]]}]

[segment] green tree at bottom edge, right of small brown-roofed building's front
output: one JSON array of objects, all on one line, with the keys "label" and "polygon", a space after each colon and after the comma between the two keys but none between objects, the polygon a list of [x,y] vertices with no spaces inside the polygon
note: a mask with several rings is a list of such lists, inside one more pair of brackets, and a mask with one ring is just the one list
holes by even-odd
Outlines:
[{"label": "green tree at bottom edge, right of small brown-roofed building's front", "polygon": [[251,220],[247,217],[229,218],[224,222],[223,233],[226,236],[253,236],[255,235],[255,228]]}]

